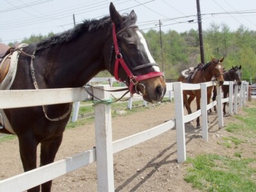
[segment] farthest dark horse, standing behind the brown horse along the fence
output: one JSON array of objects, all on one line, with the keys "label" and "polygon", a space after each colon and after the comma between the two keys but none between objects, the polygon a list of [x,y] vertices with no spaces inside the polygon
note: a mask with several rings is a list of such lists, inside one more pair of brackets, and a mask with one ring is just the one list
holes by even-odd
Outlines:
[{"label": "farthest dark horse, standing behind the brown horse along the fence", "polygon": [[[240,65],[240,67],[238,67],[236,65],[236,67],[230,68],[230,70],[225,71],[223,73],[223,77],[225,81],[236,81],[237,85],[241,85],[242,83],[242,73],[241,73],[241,68],[242,66]],[[228,85],[223,85],[222,87],[222,91],[223,91],[223,98],[227,98],[228,93],[229,93],[229,86]],[[216,87],[214,86],[213,88],[213,95],[212,95],[212,100],[216,100],[216,96],[217,96],[217,91],[216,91]],[[223,103],[223,114],[227,114],[226,113],[226,104],[227,102]],[[216,111],[216,106],[214,106],[214,111]]]}]

